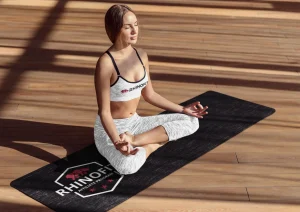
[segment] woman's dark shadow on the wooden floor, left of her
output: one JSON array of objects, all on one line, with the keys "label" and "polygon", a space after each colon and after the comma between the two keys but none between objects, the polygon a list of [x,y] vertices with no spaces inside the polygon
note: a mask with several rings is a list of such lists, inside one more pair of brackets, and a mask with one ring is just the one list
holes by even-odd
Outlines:
[{"label": "woman's dark shadow on the wooden floor, left of her", "polygon": [[53,163],[61,158],[31,145],[31,142],[62,146],[67,152],[65,158],[67,161],[68,155],[94,144],[94,129],[92,127],[0,119],[0,139],[1,145],[4,147]]}]

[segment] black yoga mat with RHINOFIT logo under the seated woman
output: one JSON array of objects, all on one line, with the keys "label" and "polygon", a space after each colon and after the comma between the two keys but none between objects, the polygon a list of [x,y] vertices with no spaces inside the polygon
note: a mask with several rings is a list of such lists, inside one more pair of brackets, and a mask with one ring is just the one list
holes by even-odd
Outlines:
[{"label": "black yoga mat with RHINOFIT logo under the seated woman", "polygon": [[275,112],[214,91],[181,105],[194,101],[209,107],[208,115],[199,119],[198,131],[165,144],[132,175],[119,175],[93,144],[12,181],[11,186],[54,211],[107,211]]}]

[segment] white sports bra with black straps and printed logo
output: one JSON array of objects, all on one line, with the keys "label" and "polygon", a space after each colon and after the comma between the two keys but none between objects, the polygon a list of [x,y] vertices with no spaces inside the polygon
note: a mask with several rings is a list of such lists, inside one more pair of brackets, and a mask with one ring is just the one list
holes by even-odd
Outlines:
[{"label": "white sports bra with black straps and printed logo", "polygon": [[130,81],[126,80],[125,78],[123,78],[120,75],[119,69],[117,67],[117,64],[116,64],[114,58],[112,57],[112,55],[110,54],[109,51],[106,51],[106,53],[110,56],[110,58],[113,62],[113,65],[118,74],[117,80],[110,86],[110,100],[111,101],[128,101],[128,100],[140,97],[142,89],[148,83],[147,71],[143,64],[143,61],[141,60],[137,50],[135,48],[134,48],[134,50],[136,51],[136,54],[144,67],[144,77],[137,82],[130,82]]}]

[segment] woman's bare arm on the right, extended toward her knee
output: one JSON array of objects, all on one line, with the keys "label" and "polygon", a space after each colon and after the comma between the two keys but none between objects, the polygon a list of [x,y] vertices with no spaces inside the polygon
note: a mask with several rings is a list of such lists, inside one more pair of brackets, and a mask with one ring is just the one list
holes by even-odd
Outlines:
[{"label": "woman's bare arm on the right, extended toward her knee", "polygon": [[152,87],[151,79],[150,79],[150,71],[149,71],[149,61],[148,61],[148,55],[145,51],[140,50],[142,54],[142,58],[145,64],[145,68],[148,74],[148,84],[147,86],[142,90],[142,96],[145,99],[146,102],[162,108],[164,110],[174,111],[177,113],[181,113],[183,111],[183,106],[175,104],[166,98],[162,97],[158,93],[156,93]]}]

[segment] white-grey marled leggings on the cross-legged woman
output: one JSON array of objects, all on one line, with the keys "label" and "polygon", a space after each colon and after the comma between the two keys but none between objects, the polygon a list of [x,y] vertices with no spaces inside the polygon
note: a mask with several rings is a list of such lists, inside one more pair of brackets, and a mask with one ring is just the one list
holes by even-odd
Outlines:
[{"label": "white-grey marled leggings on the cross-legged woman", "polygon": [[[158,114],[153,116],[141,117],[137,113],[129,118],[113,119],[119,134],[129,131],[131,134],[141,134],[149,131],[159,125],[163,126],[169,137],[168,141],[174,141],[179,138],[193,134],[199,128],[197,117],[181,113]],[[136,147],[139,151],[135,155],[123,155],[117,150],[104,130],[100,116],[97,118],[94,126],[95,144],[102,156],[120,174],[133,174],[137,172],[146,161],[146,149]]]}]

